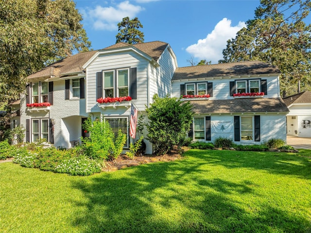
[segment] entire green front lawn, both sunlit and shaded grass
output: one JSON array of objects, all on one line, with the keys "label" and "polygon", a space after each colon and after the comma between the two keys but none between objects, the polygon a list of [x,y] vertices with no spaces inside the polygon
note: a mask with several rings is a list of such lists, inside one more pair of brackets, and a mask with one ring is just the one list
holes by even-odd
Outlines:
[{"label": "entire green front lawn, both sunlit and shaded grass", "polygon": [[0,232],[311,232],[310,157],[184,155],[88,177],[1,163]]}]

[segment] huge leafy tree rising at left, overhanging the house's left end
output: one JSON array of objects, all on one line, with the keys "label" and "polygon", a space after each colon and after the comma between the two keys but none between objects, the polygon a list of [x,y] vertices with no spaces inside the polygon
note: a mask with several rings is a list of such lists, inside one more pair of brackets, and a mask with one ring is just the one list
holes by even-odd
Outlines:
[{"label": "huge leafy tree rising at left, overhanging the house's left end", "polygon": [[27,76],[90,42],[72,0],[0,0],[0,103],[18,99]]}]

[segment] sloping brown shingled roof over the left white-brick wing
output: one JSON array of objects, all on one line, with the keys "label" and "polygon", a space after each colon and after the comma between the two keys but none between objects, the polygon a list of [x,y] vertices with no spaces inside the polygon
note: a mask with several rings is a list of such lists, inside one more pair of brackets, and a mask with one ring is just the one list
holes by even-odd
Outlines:
[{"label": "sloping brown shingled roof over the left white-brick wing", "polygon": [[82,66],[94,55],[97,51],[89,51],[80,54],[74,54],[59,60],[42,69],[39,72],[33,73],[28,76],[29,79],[57,76],[61,73],[79,72],[83,71]]}]

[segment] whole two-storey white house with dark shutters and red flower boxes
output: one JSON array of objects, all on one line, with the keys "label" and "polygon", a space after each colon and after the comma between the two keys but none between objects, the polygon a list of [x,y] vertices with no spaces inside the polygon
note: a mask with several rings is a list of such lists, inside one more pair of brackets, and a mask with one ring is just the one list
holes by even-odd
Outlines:
[{"label": "whole two-storey white house with dark shutters and red flower boxes", "polygon": [[[198,95],[185,98],[195,112],[189,135],[194,141],[219,136],[252,144],[286,140],[288,108],[280,98],[279,74],[275,66],[258,61],[178,68],[168,43],[121,42],[72,55],[30,75],[20,124],[26,142],[44,138],[68,148],[86,137],[82,124],[87,117],[104,119],[115,133],[121,129],[127,135],[126,149],[138,139],[129,137],[132,104],[138,115],[145,115],[155,94]],[[145,142],[151,154],[152,145]]]}]

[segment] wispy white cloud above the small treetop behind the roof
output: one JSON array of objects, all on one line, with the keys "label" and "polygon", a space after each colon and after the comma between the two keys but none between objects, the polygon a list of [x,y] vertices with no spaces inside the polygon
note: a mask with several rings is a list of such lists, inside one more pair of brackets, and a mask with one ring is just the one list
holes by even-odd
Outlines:
[{"label": "wispy white cloud above the small treetop behind the roof", "polygon": [[83,11],[83,16],[85,20],[92,22],[93,28],[96,30],[114,31],[118,30],[117,24],[122,21],[122,18],[135,18],[143,10],[144,8],[141,6],[133,5],[129,1],[122,1],[116,6],[97,5],[95,8],[87,8]]}]

